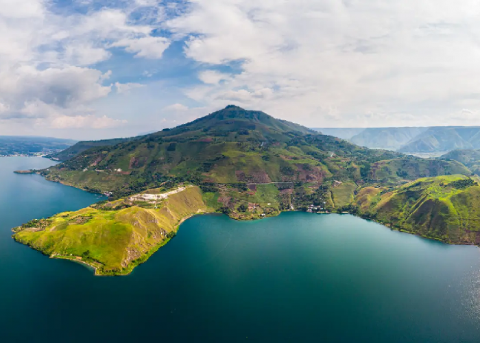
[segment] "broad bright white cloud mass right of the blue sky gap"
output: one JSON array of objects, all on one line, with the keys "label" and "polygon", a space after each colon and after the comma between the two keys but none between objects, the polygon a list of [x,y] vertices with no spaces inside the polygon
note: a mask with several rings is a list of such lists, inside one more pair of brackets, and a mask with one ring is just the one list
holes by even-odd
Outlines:
[{"label": "broad bright white cloud mass right of the blue sky gap", "polygon": [[239,65],[221,87],[201,73],[185,90],[206,106],[231,99],[309,126],[435,125],[480,109],[478,1],[188,3],[166,24],[185,54]]}]

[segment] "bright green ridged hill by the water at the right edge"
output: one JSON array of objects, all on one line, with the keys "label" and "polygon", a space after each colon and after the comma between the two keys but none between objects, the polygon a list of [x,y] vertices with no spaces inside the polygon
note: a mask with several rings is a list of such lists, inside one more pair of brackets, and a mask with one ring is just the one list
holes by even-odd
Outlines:
[{"label": "bright green ridged hill by the water at the right edge", "polygon": [[361,189],[359,213],[392,228],[447,243],[480,244],[479,178],[437,176],[392,191]]}]

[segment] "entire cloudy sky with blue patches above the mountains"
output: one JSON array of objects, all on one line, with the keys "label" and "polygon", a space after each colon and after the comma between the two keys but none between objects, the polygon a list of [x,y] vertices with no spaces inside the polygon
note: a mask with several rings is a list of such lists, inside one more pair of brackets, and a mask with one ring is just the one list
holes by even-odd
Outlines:
[{"label": "entire cloudy sky with blue patches above the mountains", "polygon": [[480,125],[474,0],[0,0],[0,134],[125,137],[237,104]]}]

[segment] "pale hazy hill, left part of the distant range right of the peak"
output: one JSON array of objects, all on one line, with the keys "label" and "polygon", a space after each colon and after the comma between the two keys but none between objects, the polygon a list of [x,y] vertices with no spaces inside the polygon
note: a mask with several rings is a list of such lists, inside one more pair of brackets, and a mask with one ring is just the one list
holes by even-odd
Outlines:
[{"label": "pale hazy hill, left part of the distant range right of the peak", "polygon": [[350,139],[364,147],[397,150],[428,128],[367,128]]}]

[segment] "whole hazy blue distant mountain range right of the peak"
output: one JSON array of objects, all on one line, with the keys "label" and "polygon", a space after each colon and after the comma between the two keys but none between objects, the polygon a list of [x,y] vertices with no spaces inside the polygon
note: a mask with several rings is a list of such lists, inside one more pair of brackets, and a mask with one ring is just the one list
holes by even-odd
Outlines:
[{"label": "whole hazy blue distant mountain range right of the peak", "polygon": [[351,143],[404,153],[448,152],[480,148],[478,126],[433,126],[430,128],[314,128]]}]

